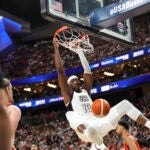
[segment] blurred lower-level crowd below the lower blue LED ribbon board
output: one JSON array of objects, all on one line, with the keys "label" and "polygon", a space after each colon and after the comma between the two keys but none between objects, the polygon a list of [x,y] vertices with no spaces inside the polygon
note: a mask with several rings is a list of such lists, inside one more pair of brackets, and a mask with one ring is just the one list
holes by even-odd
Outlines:
[{"label": "blurred lower-level crowd below the lower blue LED ribbon board", "polygon": [[[150,99],[149,99],[150,100]],[[150,101],[134,104],[150,119]],[[150,138],[150,131],[127,116],[122,119],[128,121],[130,133],[138,139]],[[122,140],[115,131],[110,132],[104,143],[110,150],[121,150]],[[90,143],[84,143],[70,129],[65,118],[65,110],[50,111],[47,109],[27,111],[21,119],[16,133],[15,145],[17,150],[30,150],[38,145],[38,150],[89,150]],[[33,149],[32,149],[33,150]]]}]

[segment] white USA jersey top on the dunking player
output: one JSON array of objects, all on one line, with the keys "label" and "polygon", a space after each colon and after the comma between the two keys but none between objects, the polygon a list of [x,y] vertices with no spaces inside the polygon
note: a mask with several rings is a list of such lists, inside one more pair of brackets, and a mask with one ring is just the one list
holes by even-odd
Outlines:
[{"label": "white USA jersey top on the dunking player", "polygon": [[84,89],[82,89],[80,93],[77,93],[75,91],[73,92],[71,105],[73,111],[77,112],[81,116],[87,115],[89,117],[89,115],[92,115],[92,99]]}]

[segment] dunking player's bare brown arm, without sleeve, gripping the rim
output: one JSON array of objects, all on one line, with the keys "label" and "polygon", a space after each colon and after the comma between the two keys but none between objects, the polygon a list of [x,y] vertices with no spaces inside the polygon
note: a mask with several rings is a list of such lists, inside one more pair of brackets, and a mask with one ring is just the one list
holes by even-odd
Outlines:
[{"label": "dunking player's bare brown arm, without sleeve, gripping the rim", "polygon": [[58,50],[58,43],[55,39],[53,39],[53,46],[54,46],[54,51],[55,51],[55,67],[56,71],[58,73],[58,82],[59,86],[61,88],[61,93],[64,96],[64,103],[68,104],[71,99],[71,89],[67,83],[67,78],[64,72],[64,68],[62,65],[62,61],[60,58],[59,50]]}]

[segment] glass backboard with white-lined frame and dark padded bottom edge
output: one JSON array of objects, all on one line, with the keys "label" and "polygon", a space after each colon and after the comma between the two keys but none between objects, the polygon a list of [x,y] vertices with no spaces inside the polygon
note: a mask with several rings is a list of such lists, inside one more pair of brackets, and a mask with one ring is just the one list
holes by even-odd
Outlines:
[{"label": "glass backboard with white-lined frame and dark padded bottom edge", "polygon": [[[131,20],[119,21],[106,28],[91,26],[90,13],[96,8],[113,3],[114,0],[41,0],[42,16],[53,22],[63,22],[73,27],[86,30],[105,39],[133,43]],[[99,14],[101,15],[101,14]]]}]

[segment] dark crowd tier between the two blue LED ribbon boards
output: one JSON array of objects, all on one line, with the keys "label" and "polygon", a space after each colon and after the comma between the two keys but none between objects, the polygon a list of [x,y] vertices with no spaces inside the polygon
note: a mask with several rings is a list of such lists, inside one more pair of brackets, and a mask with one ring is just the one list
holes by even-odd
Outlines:
[{"label": "dark crowd tier between the two blue LED ribbon boards", "polygon": [[[113,76],[106,76],[104,72],[114,73]],[[93,88],[96,86],[102,86],[114,81],[124,80],[126,78],[134,77],[141,74],[150,73],[150,61],[141,58],[136,61],[130,61],[117,66],[105,67],[103,69],[95,69],[92,71],[94,78]],[[79,79],[82,75],[79,75]],[[82,80],[81,84],[82,84]],[[57,85],[57,88],[50,88],[48,83]],[[61,91],[57,80],[46,81],[38,83],[35,86],[28,85],[27,88],[31,88],[31,91],[25,91],[24,86],[13,87],[15,102],[22,102],[27,100],[34,100],[38,98],[52,97],[54,95],[60,95]]]}]

